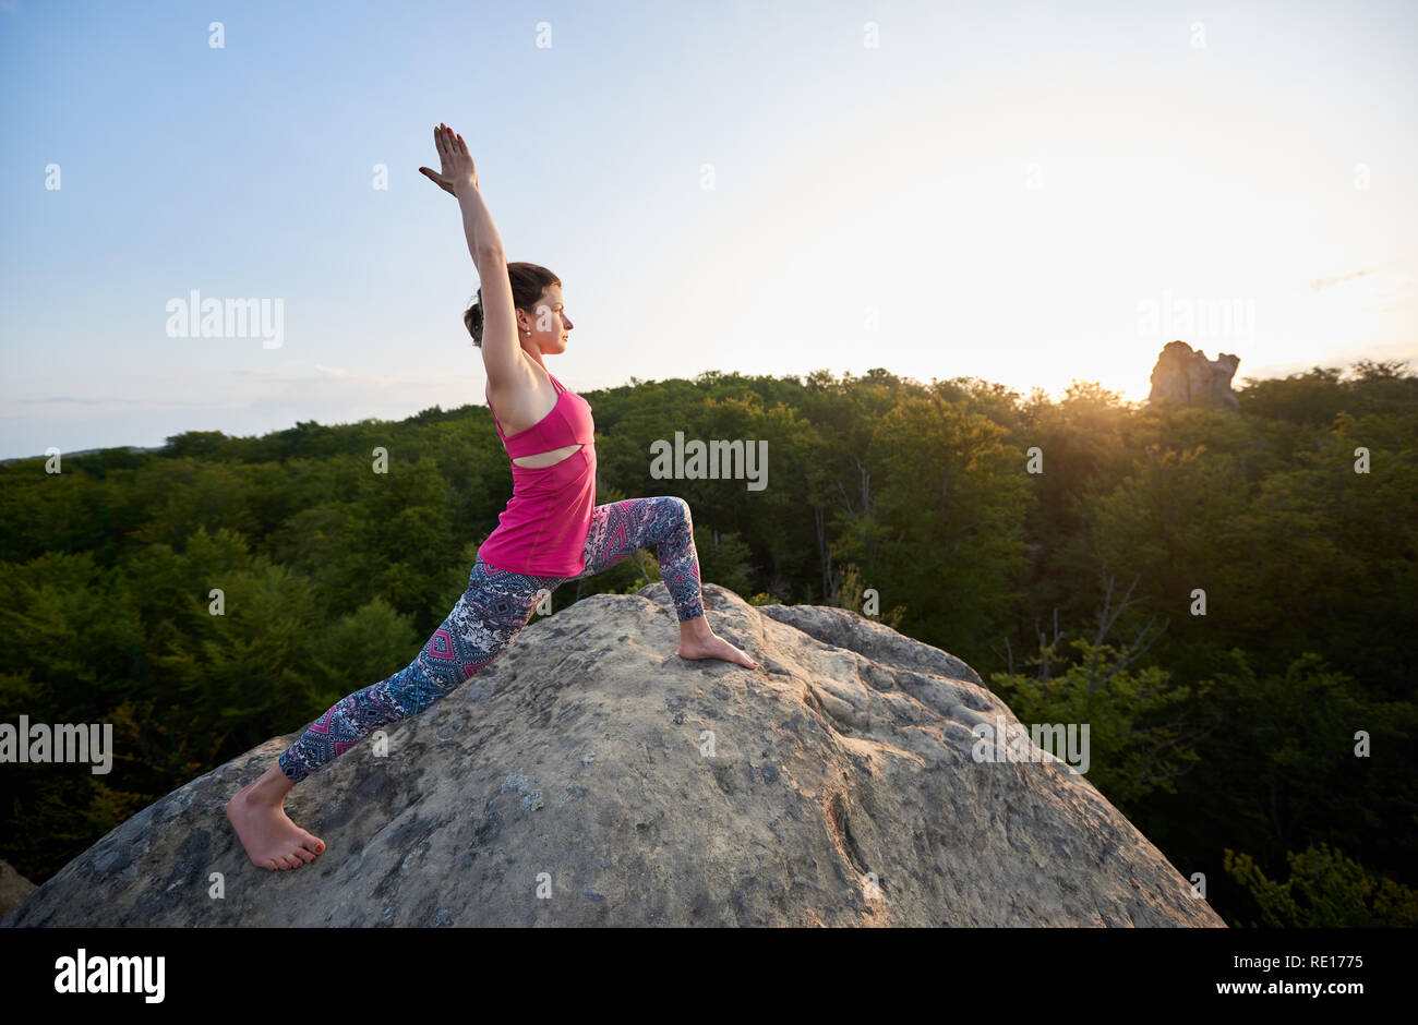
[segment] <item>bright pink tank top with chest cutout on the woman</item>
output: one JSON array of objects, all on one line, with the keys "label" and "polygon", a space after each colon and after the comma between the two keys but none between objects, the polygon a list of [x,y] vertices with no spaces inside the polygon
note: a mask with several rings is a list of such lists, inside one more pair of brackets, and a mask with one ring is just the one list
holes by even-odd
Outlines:
[{"label": "bright pink tank top with chest cutout on the woman", "polygon": [[508,461],[566,445],[581,448],[550,466],[512,464],[512,499],[478,557],[496,570],[574,577],[586,568],[586,534],[596,508],[596,421],[590,403],[562,387],[550,370],[546,376],[556,388],[556,405],[536,424],[508,437],[492,414]]}]

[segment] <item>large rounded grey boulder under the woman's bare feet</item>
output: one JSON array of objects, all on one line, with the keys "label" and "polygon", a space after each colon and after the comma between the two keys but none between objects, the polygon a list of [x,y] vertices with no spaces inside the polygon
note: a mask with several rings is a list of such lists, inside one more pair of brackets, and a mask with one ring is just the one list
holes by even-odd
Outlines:
[{"label": "large rounded grey boulder under the woman's bare feet", "polygon": [[149,805],[4,924],[1224,924],[1064,763],[971,757],[973,723],[1017,720],[960,659],[703,590],[756,672],[681,659],[664,584],[586,598],[387,753],[366,739],[299,784],[312,865],[255,868],[223,811],[296,730]]}]

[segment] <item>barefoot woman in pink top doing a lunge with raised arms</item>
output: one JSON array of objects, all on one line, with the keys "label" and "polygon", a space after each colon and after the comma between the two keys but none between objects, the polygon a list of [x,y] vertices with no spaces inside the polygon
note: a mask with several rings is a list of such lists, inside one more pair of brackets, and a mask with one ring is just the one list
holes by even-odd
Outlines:
[{"label": "barefoot woman in pink top doing a lunge with raised arms", "polygon": [[[533,607],[569,580],[614,566],[655,544],[679,618],[679,656],[757,662],[709,629],[699,591],[689,506],[672,496],[596,505],[596,425],[590,404],[546,369],[566,352],[573,325],[562,282],[543,267],[506,262],[461,135],[434,129],[441,173],[418,170],[457,197],[484,288],[464,315],[488,370],[488,404],[512,462],[513,492],[452,612],[418,656],[389,679],[357,690],[316,719],[277,764],[227,802],[227,818],[254,865],[295,869],[325,842],[285,814],[285,795],[372,730],[418,715],[492,662],[530,621]],[[516,282],[516,288],[513,288]],[[516,302],[515,302],[516,301]],[[486,340],[486,345],[484,342]],[[503,434],[496,410],[512,434]]]}]

